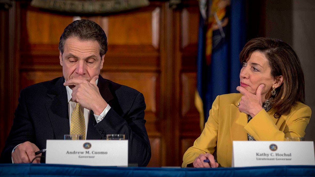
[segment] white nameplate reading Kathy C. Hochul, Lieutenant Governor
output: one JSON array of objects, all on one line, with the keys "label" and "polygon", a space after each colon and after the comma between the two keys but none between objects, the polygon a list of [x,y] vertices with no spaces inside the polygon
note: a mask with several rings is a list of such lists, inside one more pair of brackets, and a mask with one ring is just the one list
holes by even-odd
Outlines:
[{"label": "white nameplate reading Kathy C. Hochul, Lieutenant Governor", "polygon": [[315,165],[313,141],[233,141],[232,167]]}]

